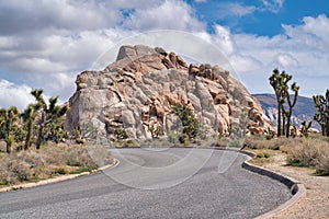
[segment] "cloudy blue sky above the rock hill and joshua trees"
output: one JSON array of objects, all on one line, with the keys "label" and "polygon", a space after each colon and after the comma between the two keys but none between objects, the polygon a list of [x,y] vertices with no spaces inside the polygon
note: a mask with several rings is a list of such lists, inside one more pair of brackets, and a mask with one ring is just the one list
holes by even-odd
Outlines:
[{"label": "cloudy blue sky above the rock hill and joshua trees", "polygon": [[[268,78],[274,68],[293,74],[302,95],[329,89],[326,0],[11,0],[0,1],[0,107],[25,107],[32,88],[65,102],[77,74],[102,54],[162,30],[216,47],[251,93],[273,92]],[[155,42],[174,51],[191,47],[179,37]],[[194,58],[222,61],[212,56]]]}]

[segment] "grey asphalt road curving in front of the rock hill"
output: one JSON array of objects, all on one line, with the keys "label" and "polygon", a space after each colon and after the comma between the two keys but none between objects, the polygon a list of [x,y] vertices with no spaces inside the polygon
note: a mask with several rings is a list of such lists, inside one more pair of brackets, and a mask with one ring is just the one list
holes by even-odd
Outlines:
[{"label": "grey asphalt road curving in front of the rock hill", "polygon": [[253,218],[291,197],[241,168],[246,155],[209,149],[121,149],[116,168],[0,194],[0,218]]}]

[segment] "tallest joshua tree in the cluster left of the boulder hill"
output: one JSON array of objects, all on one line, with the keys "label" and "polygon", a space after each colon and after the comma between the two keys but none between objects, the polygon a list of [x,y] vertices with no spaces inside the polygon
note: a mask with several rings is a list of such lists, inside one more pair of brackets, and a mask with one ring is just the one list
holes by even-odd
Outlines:
[{"label": "tallest joshua tree in the cluster left of the boulder hill", "polygon": [[66,114],[68,111],[68,106],[58,106],[58,96],[53,96],[49,99],[49,104],[46,104],[44,96],[43,96],[43,90],[33,90],[31,94],[35,97],[36,100],[36,106],[39,106],[39,113],[41,113],[41,118],[38,119],[37,123],[37,139],[35,142],[36,149],[39,149],[42,140],[43,140],[43,132],[44,128],[46,127],[47,124],[54,122],[55,119],[61,117],[63,115]]}]

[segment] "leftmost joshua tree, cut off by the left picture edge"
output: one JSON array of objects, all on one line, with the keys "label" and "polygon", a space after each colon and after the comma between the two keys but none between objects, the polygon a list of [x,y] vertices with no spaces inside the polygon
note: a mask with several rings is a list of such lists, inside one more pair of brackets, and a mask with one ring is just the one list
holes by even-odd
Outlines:
[{"label": "leftmost joshua tree, cut off by the left picture edge", "polygon": [[13,136],[11,135],[13,123],[18,119],[18,115],[20,111],[15,106],[11,106],[9,110],[1,108],[0,110],[0,117],[1,117],[1,125],[4,126],[4,138],[7,143],[7,152],[11,152],[11,146],[13,142]]}]

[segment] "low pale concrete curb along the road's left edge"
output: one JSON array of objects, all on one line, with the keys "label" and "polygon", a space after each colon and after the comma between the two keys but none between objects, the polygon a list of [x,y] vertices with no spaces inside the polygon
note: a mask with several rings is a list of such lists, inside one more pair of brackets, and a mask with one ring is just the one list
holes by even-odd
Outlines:
[{"label": "low pale concrete curb along the road's left edge", "polygon": [[82,172],[82,173],[79,173],[79,174],[60,175],[58,177],[47,178],[47,180],[38,181],[38,182],[35,182],[35,183],[24,183],[24,184],[19,184],[19,185],[7,186],[7,187],[0,188],[0,193],[4,193],[4,192],[9,192],[9,191],[16,191],[16,189],[21,189],[21,188],[30,188],[30,187],[35,187],[35,186],[39,186],[39,185],[46,185],[46,184],[50,184],[50,183],[57,183],[57,182],[61,182],[61,181],[72,180],[72,178],[77,178],[77,177],[80,177],[80,176],[83,176],[83,175],[90,175],[92,173],[100,172],[100,171],[103,171],[103,170],[109,169],[109,168],[115,168],[116,165],[118,165],[118,163],[120,163],[120,161],[114,158],[114,162],[112,164],[104,165],[104,166],[99,168],[99,169],[97,169],[94,171],[91,171],[91,172]]}]

